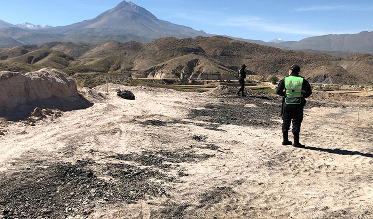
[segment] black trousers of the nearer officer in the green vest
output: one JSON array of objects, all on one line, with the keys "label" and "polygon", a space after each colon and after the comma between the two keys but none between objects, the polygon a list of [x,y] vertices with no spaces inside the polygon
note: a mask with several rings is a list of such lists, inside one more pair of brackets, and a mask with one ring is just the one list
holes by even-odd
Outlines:
[{"label": "black trousers of the nearer officer in the green vest", "polygon": [[294,106],[286,107],[284,106],[282,112],[282,136],[284,140],[288,139],[288,133],[293,121],[293,129],[291,130],[294,135],[294,142],[299,142],[299,133],[301,131],[301,123],[303,121],[303,107]]}]

